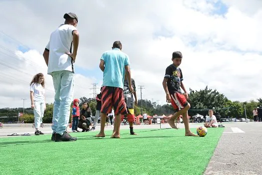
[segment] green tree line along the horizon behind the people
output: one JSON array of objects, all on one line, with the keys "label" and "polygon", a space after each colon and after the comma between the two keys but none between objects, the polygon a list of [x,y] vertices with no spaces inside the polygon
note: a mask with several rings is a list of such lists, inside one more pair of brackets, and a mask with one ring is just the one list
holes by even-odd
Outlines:
[{"label": "green tree line along the horizon behind the people", "polygon": [[[82,104],[87,101],[92,110],[92,115],[95,115],[96,111],[96,100],[94,98],[86,98],[85,96],[80,97],[79,104],[80,108]],[[143,104],[143,108],[141,108],[141,102]],[[201,115],[207,115],[208,109],[212,109],[215,107],[215,111],[221,114],[221,117],[237,117],[242,118],[246,117],[244,105],[246,105],[246,113],[248,118],[253,118],[253,109],[262,105],[262,98],[258,98],[256,100],[250,101],[231,101],[228,99],[223,93],[220,93],[218,90],[209,89],[206,86],[205,89],[192,90],[190,88],[189,93],[189,102],[191,104],[191,108],[189,109],[189,115],[193,116],[197,113]],[[71,104],[72,106],[72,104]],[[5,118],[0,117],[1,122],[7,121],[17,121],[18,112],[22,112],[23,108],[2,108],[0,109],[0,116],[7,116]],[[156,102],[153,102],[148,99],[139,99],[138,105],[134,107],[135,115],[139,115],[142,113],[147,113],[148,115],[169,115],[173,114],[174,110],[171,104],[159,105]],[[52,113],[53,113],[53,103],[46,104],[46,110],[44,112],[43,122],[51,123],[52,122]],[[71,112],[70,112],[71,113]],[[31,108],[24,109],[24,115],[20,117],[20,121],[24,120],[27,123],[33,123],[33,110]],[[71,116],[70,116],[71,121]]]}]

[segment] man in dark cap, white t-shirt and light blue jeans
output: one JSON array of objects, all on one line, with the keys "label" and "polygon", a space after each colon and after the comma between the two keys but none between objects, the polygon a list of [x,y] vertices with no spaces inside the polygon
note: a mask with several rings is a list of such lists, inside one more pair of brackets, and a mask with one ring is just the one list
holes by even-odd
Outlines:
[{"label": "man in dark cap, white t-shirt and light blue jeans", "polygon": [[78,17],[69,12],[64,14],[64,18],[64,24],[51,33],[43,57],[48,66],[47,73],[53,77],[55,89],[51,140],[75,141],[77,138],[67,133],[66,127],[73,100],[74,62],[79,43],[79,33],[76,29]]}]

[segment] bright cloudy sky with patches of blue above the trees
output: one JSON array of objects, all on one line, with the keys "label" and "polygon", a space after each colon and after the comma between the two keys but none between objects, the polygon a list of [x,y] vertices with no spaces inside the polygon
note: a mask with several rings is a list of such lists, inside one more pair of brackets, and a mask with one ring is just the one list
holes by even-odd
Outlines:
[{"label": "bright cloudy sky with patches of blue above the trees", "polygon": [[54,88],[42,57],[50,33],[78,16],[74,98],[93,97],[103,81],[102,53],[120,40],[130,57],[137,95],[166,103],[162,86],[172,52],[181,51],[186,89],[217,89],[230,100],[262,97],[261,0],[0,0],[0,108],[30,107],[29,83],[45,76],[46,102]]}]

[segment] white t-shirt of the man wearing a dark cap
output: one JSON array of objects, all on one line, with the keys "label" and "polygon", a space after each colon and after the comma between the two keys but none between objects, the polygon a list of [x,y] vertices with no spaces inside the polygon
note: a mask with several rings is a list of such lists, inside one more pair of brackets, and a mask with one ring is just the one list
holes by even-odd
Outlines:
[{"label": "white t-shirt of the man wearing a dark cap", "polygon": [[49,50],[47,73],[69,70],[74,72],[73,60],[65,52],[72,52],[73,31],[76,27],[62,24],[51,35],[46,49]]}]

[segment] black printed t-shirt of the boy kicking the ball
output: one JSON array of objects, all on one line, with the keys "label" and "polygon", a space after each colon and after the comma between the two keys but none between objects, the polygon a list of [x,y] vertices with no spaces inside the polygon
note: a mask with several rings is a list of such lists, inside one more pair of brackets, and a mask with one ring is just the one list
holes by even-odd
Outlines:
[{"label": "black printed t-shirt of the boy kicking the ball", "polygon": [[171,64],[166,68],[165,78],[167,80],[167,88],[170,94],[175,92],[182,93],[180,89],[181,81],[183,80],[183,74],[181,68]]}]

